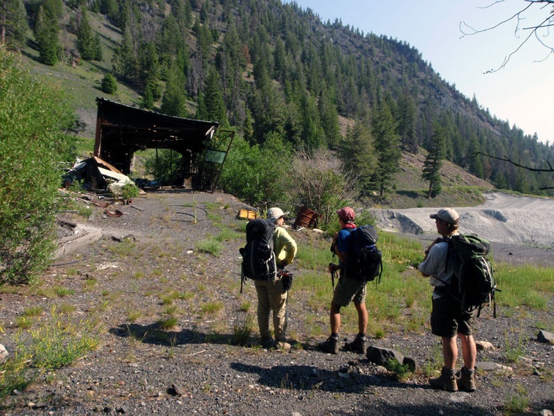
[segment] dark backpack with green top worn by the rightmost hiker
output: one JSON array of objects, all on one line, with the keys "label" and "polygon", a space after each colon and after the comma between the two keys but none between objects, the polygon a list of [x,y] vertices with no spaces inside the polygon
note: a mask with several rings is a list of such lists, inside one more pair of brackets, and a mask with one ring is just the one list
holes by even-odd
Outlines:
[{"label": "dark backpack with green top worn by the rightmost hiker", "polygon": [[454,261],[454,276],[447,293],[461,302],[463,310],[478,309],[483,304],[493,304],[496,318],[494,293],[497,289],[494,270],[488,259],[490,243],[476,234],[456,234],[443,239],[448,243],[447,261]]}]

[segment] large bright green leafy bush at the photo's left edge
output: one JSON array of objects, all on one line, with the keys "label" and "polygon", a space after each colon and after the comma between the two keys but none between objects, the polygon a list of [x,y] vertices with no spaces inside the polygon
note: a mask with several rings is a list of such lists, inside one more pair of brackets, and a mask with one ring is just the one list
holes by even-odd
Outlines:
[{"label": "large bright green leafy bush at the photo's left edge", "polygon": [[65,132],[75,123],[59,91],[0,47],[0,284],[28,281],[53,252],[60,162],[72,150]]}]

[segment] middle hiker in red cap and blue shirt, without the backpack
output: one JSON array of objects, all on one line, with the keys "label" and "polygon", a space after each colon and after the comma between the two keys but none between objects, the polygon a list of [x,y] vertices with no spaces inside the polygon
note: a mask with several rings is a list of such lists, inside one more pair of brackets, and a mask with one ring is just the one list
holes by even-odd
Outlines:
[{"label": "middle hiker in red cap and blue shirt, without the backpack", "polygon": [[339,329],[341,327],[341,306],[348,306],[354,302],[358,312],[358,330],[359,333],[352,343],[346,344],[346,349],[358,354],[366,352],[366,328],[368,326],[368,312],[366,310],[366,281],[346,277],[344,270],[348,255],[355,254],[359,248],[350,238],[356,225],[354,223],[355,213],[350,207],[344,207],[337,211],[341,230],[334,235],[332,239],[332,250],[339,257],[339,264],[330,264],[328,271],[334,272],[340,270],[341,275],[337,287],[334,288],[333,299],[330,311],[331,335],[325,342],[318,345],[319,349],[331,354],[339,352]]}]

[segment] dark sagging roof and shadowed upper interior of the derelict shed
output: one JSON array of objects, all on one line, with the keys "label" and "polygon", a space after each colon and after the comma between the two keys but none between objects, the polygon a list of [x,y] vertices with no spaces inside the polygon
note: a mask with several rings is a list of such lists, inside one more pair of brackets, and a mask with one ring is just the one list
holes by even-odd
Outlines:
[{"label": "dark sagging roof and shadowed upper interior of the derelict shed", "polygon": [[220,123],[182,119],[96,98],[94,155],[128,175],[132,155],[146,148],[168,148],[194,159]]}]

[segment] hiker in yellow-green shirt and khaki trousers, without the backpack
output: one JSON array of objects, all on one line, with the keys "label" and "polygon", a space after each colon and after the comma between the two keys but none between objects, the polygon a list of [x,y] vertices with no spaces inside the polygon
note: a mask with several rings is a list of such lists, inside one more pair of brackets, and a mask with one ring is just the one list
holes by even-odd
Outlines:
[{"label": "hiker in yellow-green shirt and khaki trousers, without the backpack", "polygon": [[[275,261],[278,269],[283,269],[292,263],[296,256],[296,241],[283,228],[287,214],[289,213],[283,212],[282,209],[277,207],[267,210],[267,218],[276,225],[273,241]],[[290,344],[285,340],[288,292],[283,289],[281,279],[281,276],[277,275],[269,283],[266,280],[254,280],[254,286],[256,286],[256,292],[258,293],[258,326],[260,327],[260,336],[262,337],[262,347],[265,348],[290,349]],[[269,331],[269,314],[271,311],[273,311],[275,341],[271,338]]]}]

